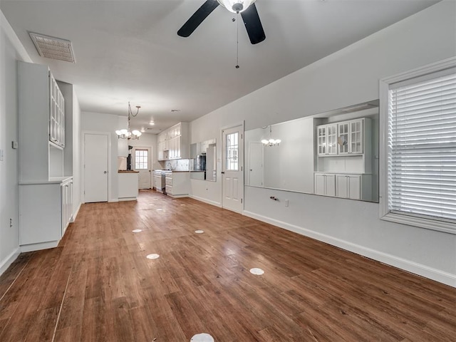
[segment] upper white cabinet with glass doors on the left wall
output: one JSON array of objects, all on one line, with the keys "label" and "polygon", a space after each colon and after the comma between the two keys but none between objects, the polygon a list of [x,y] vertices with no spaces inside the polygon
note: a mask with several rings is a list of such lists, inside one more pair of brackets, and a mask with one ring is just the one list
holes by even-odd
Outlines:
[{"label": "upper white cabinet with glass doors on the left wall", "polygon": [[[19,182],[63,176],[63,95],[47,66],[18,62]],[[72,158],[69,158],[72,159]]]}]

